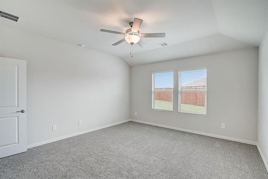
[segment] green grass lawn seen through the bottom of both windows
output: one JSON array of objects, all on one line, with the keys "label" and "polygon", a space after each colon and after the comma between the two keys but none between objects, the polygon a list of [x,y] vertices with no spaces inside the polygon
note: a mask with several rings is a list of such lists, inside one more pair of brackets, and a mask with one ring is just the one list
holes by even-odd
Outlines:
[{"label": "green grass lawn seen through the bottom of both windows", "polygon": [[[172,110],[172,102],[155,100],[155,109]],[[181,104],[181,111],[205,113],[205,107],[190,104]]]}]

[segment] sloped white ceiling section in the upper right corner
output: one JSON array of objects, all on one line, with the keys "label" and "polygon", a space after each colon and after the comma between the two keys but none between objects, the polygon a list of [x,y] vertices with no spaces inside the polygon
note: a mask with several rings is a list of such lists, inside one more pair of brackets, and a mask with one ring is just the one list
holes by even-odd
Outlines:
[{"label": "sloped white ceiling section in the upper right corner", "polygon": [[213,0],[219,33],[258,47],[268,29],[268,0]]}]

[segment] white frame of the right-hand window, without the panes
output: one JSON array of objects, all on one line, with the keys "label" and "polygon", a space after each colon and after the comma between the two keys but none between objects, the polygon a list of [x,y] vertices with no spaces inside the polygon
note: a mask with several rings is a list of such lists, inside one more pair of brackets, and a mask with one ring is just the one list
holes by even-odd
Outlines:
[{"label": "white frame of the right-hand window, without the panes", "polygon": [[[185,113],[185,114],[198,114],[198,115],[207,115],[207,90],[205,91],[205,113],[198,113],[198,112],[185,112],[185,111],[180,111],[181,107],[181,99],[180,99],[180,93],[181,93],[181,88],[180,88],[180,83],[179,83],[179,72],[181,71],[190,71],[190,70],[203,70],[206,69],[207,67],[194,67],[194,68],[183,68],[183,69],[178,69],[177,70],[177,75],[178,75],[178,113]],[[206,73],[206,80],[207,80],[207,73]]]}]

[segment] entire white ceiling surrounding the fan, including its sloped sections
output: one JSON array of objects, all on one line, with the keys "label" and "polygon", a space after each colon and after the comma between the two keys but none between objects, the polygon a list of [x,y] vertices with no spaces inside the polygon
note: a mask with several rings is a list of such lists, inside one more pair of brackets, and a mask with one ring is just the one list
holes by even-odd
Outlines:
[{"label": "entire white ceiling surrounding the fan, including its sloped sections", "polygon": [[[22,17],[19,23],[0,18],[1,25],[84,44],[84,48],[121,57],[129,65],[258,47],[268,29],[267,0],[0,1],[0,9]],[[125,32],[134,18],[143,19],[141,33],[164,32],[166,37],[142,38],[147,47],[134,45],[130,59],[130,44],[111,45],[124,36],[99,30]],[[162,42],[169,46],[156,46]]]}]

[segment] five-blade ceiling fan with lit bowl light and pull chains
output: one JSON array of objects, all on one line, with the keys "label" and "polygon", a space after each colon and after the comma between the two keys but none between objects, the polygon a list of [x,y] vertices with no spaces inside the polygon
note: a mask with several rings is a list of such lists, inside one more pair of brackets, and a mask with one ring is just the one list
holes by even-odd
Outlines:
[{"label": "five-blade ceiling fan with lit bowl light and pull chains", "polygon": [[[126,30],[126,33],[122,33],[122,32],[115,32],[112,30],[105,30],[105,29],[101,29],[101,32],[108,32],[108,33],[115,33],[115,34],[120,34],[120,35],[126,35],[125,38],[123,38],[122,40],[115,42],[114,44],[112,44],[113,46],[121,44],[124,41],[127,41],[128,43],[131,44],[131,47],[133,46],[133,44],[138,44],[140,47],[146,47],[146,45],[144,44],[143,41],[141,41],[142,37],[165,37],[166,34],[165,33],[142,33],[140,34],[140,27],[141,27],[141,23],[143,22],[143,20],[139,19],[139,18],[134,18],[133,22],[130,22],[129,25],[130,29]],[[131,50],[132,51],[132,50]],[[132,54],[130,52],[130,54]]]}]

